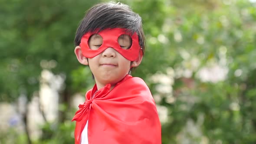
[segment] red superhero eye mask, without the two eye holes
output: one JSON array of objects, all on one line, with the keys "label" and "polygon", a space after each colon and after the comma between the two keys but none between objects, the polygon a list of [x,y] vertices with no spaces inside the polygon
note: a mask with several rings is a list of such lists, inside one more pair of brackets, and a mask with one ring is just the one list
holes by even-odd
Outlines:
[{"label": "red superhero eye mask, without the two eye holes", "polygon": [[[102,36],[102,39],[103,39],[102,45],[96,50],[90,49],[88,45],[89,38],[93,34],[98,34]],[[122,49],[118,43],[118,37],[124,34],[129,35],[131,37],[132,44],[130,49]],[[124,28],[104,29],[99,33],[93,33],[93,32],[85,33],[82,36],[80,47],[82,49],[82,54],[86,58],[93,58],[98,54],[102,53],[105,49],[111,47],[115,49],[117,52],[119,52],[123,57],[125,57],[125,59],[128,59],[129,61],[135,61],[139,56],[139,50],[140,50],[137,33],[133,33],[133,34],[129,33],[127,32],[127,29],[124,29]]]}]

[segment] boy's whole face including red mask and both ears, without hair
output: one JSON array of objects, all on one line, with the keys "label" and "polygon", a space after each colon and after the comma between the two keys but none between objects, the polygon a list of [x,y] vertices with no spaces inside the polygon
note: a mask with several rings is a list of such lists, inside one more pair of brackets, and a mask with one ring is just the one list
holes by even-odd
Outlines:
[{"label": "boy's whole face including red mask and both ears, without hair", "polygon": [[142,60],[138,35],[127,35],[120,28],[86,33],[81,47],[75,48],[75,55],[80,63],[89,65],[98,89],[108,83],[115,86]]}]

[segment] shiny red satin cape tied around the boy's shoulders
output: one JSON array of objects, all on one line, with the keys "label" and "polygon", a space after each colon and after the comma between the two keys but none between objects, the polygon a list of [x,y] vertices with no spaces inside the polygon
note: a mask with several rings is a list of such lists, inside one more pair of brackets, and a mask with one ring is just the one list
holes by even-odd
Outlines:
[{"label": "shiny red satin cape tied around the boy's shoulders", "polygon": [[161,144],[158,112],[145,82],[126,75],[109,92],[110,87],[96,92],[95,85],[86,93],[85,103],[72,119],[76,121],[75,144],[80,144],[88,119],[89,144]]}]

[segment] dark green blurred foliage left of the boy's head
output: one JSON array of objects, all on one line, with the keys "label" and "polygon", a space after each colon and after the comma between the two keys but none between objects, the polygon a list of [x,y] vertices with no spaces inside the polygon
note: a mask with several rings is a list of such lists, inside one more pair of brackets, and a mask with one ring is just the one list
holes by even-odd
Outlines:
[{"label": "dark green blurred foliage left of the boy's head", "polygon": [[3,0],[0,4],[0,99],[13,101],[20,93],[38,90],[42,69],[67,75],[79,67],[73,39],[87,0]]}]

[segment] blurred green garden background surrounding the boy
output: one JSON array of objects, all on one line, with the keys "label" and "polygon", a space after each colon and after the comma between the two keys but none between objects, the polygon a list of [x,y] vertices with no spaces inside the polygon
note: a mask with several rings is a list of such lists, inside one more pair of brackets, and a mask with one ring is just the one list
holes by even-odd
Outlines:
[{"label": "blurred green garden background surrounding the boy", "polygon": [[[0,144],[74,143],[94,81],[73,40],[105,1],[0,0]],[[256,0],[120,1],[143,19],[133,76],[151,89],[162,144],[256,144]]]}]

